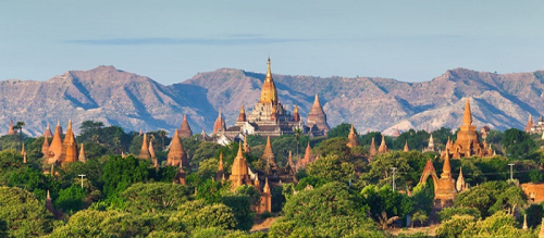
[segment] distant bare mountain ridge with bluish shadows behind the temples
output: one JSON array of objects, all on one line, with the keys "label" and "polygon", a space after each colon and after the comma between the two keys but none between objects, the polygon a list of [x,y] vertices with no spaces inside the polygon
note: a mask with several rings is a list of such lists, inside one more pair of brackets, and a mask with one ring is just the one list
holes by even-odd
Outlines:
[{"label": "distant bare mountain ridge with bluish shadows behind the temples", "polygon": [[[466,68],[446,71],[431,82],[405,83],[378,77],[312,77],[273,74],[280,101],[287,110],[298,104],[306,121],[319,93],[331,127],[354,123],[359,131],[394,128],[457,128],[463,101],[470,97],[473,123],[479,127],[522,128],[528,114],[544,112],[544,71],[494,74]],[[219,107],[233,125],[239,107],[251,110],[260,96],[264,74],[220,68],[199,73],[174,85],[98,66],[69,71],[46,82],[0,82],[0,134],[11,117],[24,121],[24,131],[41,135],[47,122],[60,118],[74,127],[86,120],[119,125],[126,130],[166,129],[173,134],[187,114],[194,133],[210,133]]]}]

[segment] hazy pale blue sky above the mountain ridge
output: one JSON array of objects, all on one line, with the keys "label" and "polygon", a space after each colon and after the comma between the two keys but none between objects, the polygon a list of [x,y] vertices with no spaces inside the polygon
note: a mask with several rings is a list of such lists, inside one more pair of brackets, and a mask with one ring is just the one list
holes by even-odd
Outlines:
[{"label": "hazy pale blue sky above the mountain ridge", "polygon": [[163,84],[235,67],[430,80],[544,68],[544,1],[0,0],[0,79],[98,65]]}]

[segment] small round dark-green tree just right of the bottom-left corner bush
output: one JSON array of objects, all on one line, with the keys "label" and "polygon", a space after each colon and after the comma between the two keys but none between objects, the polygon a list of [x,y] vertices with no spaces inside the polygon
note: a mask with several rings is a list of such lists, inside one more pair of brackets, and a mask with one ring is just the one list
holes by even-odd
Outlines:
[{"label": "small round dark-green tree just right of the bottom-left corner bush", "polygon": [[87,195],[81,186],[72,185],[61,189],[59,198],[54,200],[54,205],[62,209],[63,212],[74,213],[83,209],[86,197]]}]

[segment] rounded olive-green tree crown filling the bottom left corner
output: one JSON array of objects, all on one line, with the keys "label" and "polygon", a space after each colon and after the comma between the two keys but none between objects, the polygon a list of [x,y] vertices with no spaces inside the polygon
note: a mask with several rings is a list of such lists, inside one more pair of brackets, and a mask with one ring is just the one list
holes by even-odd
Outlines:
[{"label": "rounded olive-green tree crown filling the bottom left corner", "polygon": [[52,229],[53,217],[37,197],[21,188],[0,187],[0,235],[37,237]]}]

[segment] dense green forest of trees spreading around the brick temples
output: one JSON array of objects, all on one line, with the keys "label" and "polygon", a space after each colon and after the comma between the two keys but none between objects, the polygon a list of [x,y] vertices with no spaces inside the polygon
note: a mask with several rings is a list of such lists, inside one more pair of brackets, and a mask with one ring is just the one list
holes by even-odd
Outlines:
[{"label": "dense green forest of trees spreading around the brick temples", "polygon": [[[349,129],[341,124],[326,138],[273,138],[279,166],[287,164],[289,151],[296,163],[308,143],[319,159],[297,171],[297,183],[271,188],[272,213],[264,214],[251,210],[260,200],[255,187],[233,191],[228,180],[215,179],[220,153],[230,174],[235,142],[183,138],[190,167],[186,185],[178,185],[172,183],[177,167],[164,166],[171,141],[164,130],[147,133],[159,167],[134,155],[143,142],[139,133],[100,122],[84,122],[76,138],[86,162],[60,167],[45,164],[44,137],[2,136],[0,237],[537,237],[544,206],[530,203],[519,185],[543,180],[541,136],[516,128],[491,130],[485,140],[496,155],[452,160],[454,177],[462,167],[469,189],[457,195],[453,206],[436,212],[433,183],[419,183],[429,160],[442,172],[437,152],[420,152],[429,143],[428,131],[384,137],[390,152],[369,162],[371,140],[380,145],[382,135],[360,135],[361,146],[349,148]],[[438,149],[456,137],[449,128],[432,135]],[[248,136],[247,142],[249,166],[264,170],[267,139]],[[409,152],[403,151],[405,143]],[[514,164],[512,174],[508,164]],[[46,209],[48,197],[57,214]],[[267,222],[270,227],[256,228]]]}]

